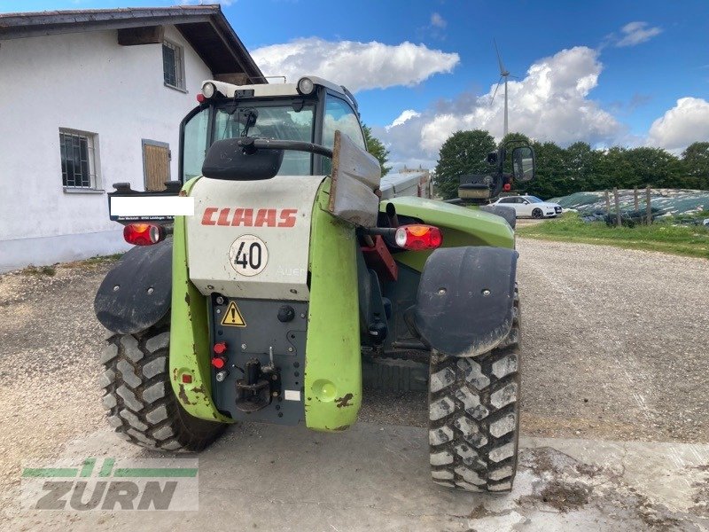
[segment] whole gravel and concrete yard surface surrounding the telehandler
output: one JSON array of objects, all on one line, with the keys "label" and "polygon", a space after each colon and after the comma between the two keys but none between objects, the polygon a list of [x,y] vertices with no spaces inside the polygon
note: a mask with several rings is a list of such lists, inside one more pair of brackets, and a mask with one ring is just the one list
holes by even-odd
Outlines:
[{"label": "whole gravel and concrete yard surface surrounding the telehandler", "polygon": [[16,512],[22,460],[143,451],[105,431],[100,407],[92,300],[109,265],[0,276],[0,528],[709,528],[709,262],[525,239],[518,249],[528,449],[510,496],[432,484],[425,394],[370,393],[368,424],[346,434],[230,430],[199,457],[201,511],[189,514]]}]

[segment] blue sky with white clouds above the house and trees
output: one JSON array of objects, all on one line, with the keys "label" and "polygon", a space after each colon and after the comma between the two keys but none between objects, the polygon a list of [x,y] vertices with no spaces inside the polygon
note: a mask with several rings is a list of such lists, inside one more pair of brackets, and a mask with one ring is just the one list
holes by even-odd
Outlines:
[{"label": "blue sky with white clouds above the house and trees", "polygon": [[[197,4],[0,0],[0,12]],[[709,0],[224,0],[266,75],[315,74],[354,92],[394,168],[433,168],[464,129],[558,145],[709,141]],[[277,80],[274,80],[277,82]]]}]

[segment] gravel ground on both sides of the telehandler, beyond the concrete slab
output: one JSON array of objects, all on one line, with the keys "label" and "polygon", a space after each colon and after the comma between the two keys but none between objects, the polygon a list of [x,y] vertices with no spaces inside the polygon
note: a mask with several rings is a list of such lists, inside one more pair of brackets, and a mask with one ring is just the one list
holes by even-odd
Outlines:
[{"label": "gravel ground on both sides of the telehandler, beyond the concrete slab", "polygon": [[[709,442],[709,262],[518,240],[522,431]],[[93,295],[106,264],[0,276],[0,506],[19,463],[104,426]],[[425,394],[372,392],[362,419],[425,425]]]}]

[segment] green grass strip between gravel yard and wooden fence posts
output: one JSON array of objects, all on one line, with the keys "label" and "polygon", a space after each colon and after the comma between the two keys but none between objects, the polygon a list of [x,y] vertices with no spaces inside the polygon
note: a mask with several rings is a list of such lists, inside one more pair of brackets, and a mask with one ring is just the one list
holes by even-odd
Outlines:
[{"label": "green grass strip between gravel yard and wooden fence posts", "polygon": [[674,225],[672,221],[633,228],[608,227],[604,222],[584,223],[576,213],[565,213],[557,220],[520,227],[517,234],[529,239],[618,246],[709,259],[709,229]]}]

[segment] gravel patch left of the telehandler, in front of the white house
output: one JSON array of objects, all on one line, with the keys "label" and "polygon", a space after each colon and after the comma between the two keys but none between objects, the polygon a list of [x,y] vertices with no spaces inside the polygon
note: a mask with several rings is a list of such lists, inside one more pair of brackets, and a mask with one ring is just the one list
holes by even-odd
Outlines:
[{"label": "gravel patch left of the telehandler, in front of the white house", "polygon": [[0,507],[23,460],[104,426],[97,354],[105,329],[93,296],[109,266],[65,265],[56,275],[0,275]]}]

